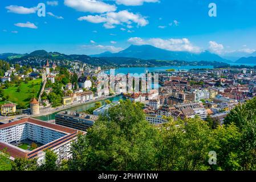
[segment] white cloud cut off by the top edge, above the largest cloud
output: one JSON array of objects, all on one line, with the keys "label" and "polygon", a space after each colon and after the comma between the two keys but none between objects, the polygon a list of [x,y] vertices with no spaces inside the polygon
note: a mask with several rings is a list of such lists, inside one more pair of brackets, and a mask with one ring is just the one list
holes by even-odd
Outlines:
[{"label": "white cloud cut off by the top edge, above the largest cloud", "polygon": [[105,13],[116,11],[115,5],[109,5],[102,1],[96,0],[65,0],[64,5],[72,7],[77,11],[90,12],[90,13]]}]

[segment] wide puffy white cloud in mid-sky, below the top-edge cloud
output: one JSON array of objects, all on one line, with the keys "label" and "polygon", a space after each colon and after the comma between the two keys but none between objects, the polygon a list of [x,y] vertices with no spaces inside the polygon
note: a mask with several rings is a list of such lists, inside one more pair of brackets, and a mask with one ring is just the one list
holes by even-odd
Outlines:
[{"label": "wide puffy white cloud in mid-sky, below the top-edge cloud", "polygon": [[115,28],[117,24],[128,24],[136,23],[137,26],[146,26],[148,20],[140,14],[133,14],[127,10],[119,11],[118,13],[109,12],[101,15],[87,15],[81,16],[78,20],[86,20],[91,23],[104,23],[105,28]]}]

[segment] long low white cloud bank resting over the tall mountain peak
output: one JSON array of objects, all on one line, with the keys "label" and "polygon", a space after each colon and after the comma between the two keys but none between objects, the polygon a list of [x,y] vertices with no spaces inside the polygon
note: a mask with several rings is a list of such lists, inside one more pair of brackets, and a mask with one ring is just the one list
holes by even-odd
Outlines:
[{"label": "long low white cloud bank resting over the tall mountain peak", "polygon": [[128,39],[129,43],[136,45],[151,45],[157,48],[166,49],[168,51],[189,51],[189,52],[201,52],[201,48],[193,46],[188,39],[160,39],[160,38],[151,38],[151,39],[142,39],[142,38],[130,38]]}]

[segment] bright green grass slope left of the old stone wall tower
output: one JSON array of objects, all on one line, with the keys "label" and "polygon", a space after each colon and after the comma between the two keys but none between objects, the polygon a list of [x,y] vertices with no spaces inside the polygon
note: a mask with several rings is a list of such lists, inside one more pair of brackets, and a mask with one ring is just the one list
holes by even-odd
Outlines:
[{"label": "bright green grass slope left of the old stone wall tower", "polygon": [[[27,84],[25,82],[21,83],[21,86],[18,84],[13,84],[9,88],[4,89],[4,97],[8,98],[8,101],[14,102],[20,106],[29,107],[29,102],[31,98],[38,97],[40,92],[42,79],[38,78],[36,80],[30,80]],[[18,92],[18,88],[20,92]],[[0,102],[0,104],[4,104],[4,102]]]}]

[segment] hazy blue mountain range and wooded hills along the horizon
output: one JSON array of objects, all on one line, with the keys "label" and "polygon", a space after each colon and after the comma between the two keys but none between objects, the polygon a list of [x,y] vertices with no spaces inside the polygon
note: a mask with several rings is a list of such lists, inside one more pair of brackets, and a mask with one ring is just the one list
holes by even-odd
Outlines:
[{"label": "hazy blue mountain range and wooded hills along the horizon", "polygon": [[239,63],[239,64],[255,64],[256,52],[251,53],[248,57],[241,57],[235,62],[232,62],[227,57],[221,57],[209,51],[201,53],[192,53],[186,51],[167,51],[165,49],[156,48],[149,45],[143,46],[129,46],[127,49],[117,53],[103,52],[99,55],[66,55],[59,52],[47,52],[38,50],[26,54],[18,53],[2,53],[0,59],[9,60],[13,62],[28,61],[33,62],[35,65],[42,65],[40,61],[50,59],[52,61],[62,60],[79,60],[83,63],[91,65],[169,65],[169,61],[187,61],[187,62],[222,62],[222,63]]}]

